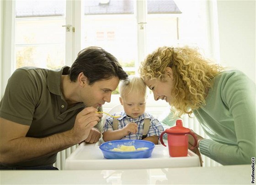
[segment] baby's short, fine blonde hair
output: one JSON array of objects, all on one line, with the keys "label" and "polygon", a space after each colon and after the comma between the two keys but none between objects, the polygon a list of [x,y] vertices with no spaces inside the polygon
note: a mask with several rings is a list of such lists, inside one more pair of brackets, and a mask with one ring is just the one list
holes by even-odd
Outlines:
[{"label": "baby's short, fine blonde hair", "polygon": [[129,81],[121,81],[119,84],[121,98],[125,98],[131,92],[137,92],[138,95],[147,95],[147,85],[142,78],[131,75],[128,79]]}]

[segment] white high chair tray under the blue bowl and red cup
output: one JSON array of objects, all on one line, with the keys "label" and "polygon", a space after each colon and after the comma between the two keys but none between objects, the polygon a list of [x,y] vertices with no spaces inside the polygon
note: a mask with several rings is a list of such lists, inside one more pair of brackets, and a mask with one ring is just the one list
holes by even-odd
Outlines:
[{"label": "white high chair tray under the blue bowl and red cup", "polygon": [[[187,157],[170,157],[168,147],[155,145],[151,157],[145,159],[105,159],[94,144],[81,143],[66,159],[65,169],[154,169],[200,166],[197,154],[188,150]],[[165,142],[167,143],[167,141]]]}]

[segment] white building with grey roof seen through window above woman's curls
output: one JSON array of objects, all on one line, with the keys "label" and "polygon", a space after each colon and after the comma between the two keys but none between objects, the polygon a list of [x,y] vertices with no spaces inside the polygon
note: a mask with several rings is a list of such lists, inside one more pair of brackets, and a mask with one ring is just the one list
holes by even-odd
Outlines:
[{"label": "white building with grey roof seen through window above woman's curls", "polygon": [[178,39],[180,9],[173,0],[147,1],[147,51],[161,46],[170,46]]}]

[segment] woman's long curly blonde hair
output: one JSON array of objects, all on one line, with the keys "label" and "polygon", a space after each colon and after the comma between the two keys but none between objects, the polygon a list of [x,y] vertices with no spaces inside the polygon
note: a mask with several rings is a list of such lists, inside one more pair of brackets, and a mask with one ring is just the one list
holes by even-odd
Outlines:
[{"label": "woman's long curly blonde hair", "polygon": [[139,73],[144,80],[165,81],[165,69],[173,71],[172,111],[176,116],[188,114],[205,105],[213,78],[223,67],[203,58],[196,48],[160,47],[141,63]]}]

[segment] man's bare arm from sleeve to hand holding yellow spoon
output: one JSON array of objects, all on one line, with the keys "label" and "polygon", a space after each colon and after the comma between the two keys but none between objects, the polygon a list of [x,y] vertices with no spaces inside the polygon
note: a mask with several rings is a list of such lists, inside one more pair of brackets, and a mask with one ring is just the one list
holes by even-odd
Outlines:
[{"label": "man's bare arm from sleeve to hand holding yellow spoon", "polygon": [[26,137],[29,126],[0,117],[1,164],[15,164],[51,155],[85,141],[90,134],[95,135],[91,129],[102,117],[96,111],[94,107],[87,107],[77,114],[71,130],[42,138]]}]

